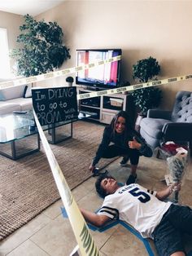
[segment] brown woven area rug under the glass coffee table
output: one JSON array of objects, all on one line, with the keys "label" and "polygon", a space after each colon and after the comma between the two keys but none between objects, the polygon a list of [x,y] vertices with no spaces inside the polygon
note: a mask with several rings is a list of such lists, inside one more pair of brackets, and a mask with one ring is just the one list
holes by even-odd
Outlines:
[{"label": "brown woven area rug under the glass coffee table", "polygon": [[[97,123],[78,121],[73,124],[72,139],[50,145],[71,189],[91,176],[89,165],[102,139],[103,129],[104,126]],[[0,161],[1,241],[60,196],[42,145],[40,152],[18,161],[2,156]],[[111,161],[114,159],[101,160],[99,167],[104,168]]]}]

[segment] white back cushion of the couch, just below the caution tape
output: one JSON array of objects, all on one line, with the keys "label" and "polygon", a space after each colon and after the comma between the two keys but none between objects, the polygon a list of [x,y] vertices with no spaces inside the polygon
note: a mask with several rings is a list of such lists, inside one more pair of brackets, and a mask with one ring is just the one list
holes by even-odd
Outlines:
[{"label": "white back cushion of the couch, just below the caution tape", "polygon": [[0,95],[2,97],[2,99],[0,100],[16,99],[16,98],[23,97],[24,87],[25,85],[11,86],[11,87],[0,89]]}]

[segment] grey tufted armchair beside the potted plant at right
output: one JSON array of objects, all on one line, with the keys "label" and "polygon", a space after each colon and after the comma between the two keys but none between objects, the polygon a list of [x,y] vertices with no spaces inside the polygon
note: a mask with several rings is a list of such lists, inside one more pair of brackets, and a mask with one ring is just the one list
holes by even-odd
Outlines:
[{"label": "grey tufted armchair beside the potted plant at right", "polygon": [[179,91],[172,111],[149,109],[141,121],[140,133],[151,148],[168,140],[192,145],[192,92]]}]

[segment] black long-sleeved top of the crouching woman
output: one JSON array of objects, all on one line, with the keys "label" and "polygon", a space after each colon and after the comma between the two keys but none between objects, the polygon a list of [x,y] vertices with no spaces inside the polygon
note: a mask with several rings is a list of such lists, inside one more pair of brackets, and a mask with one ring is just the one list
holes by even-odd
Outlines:
[{"label": "black long-sleeved top of the crouching woman", "polygon": [[142,144],[142,147],[140,148],[140,150],[138,150],[138,152],[140,152],[141,155],[144,157],[152,157],[153,152],[151,148],[146,144],[145,139],[143,139],[136,130],[129,130],[129,135],[125,137],[124,133],[114,133],[112,132],[111,126],[107,126],[103,132],[103,139],[98,146],[98,150],[93,159],[92,165],[95,166],[98,163],[98,161],[103,156],[103,152],[107,149],[110,143],[114,143],[120,148],[130,150],[131,148],[129,148],[128,142],[129,140],[133,140],[133,137],[137,140],[138,143]]}]

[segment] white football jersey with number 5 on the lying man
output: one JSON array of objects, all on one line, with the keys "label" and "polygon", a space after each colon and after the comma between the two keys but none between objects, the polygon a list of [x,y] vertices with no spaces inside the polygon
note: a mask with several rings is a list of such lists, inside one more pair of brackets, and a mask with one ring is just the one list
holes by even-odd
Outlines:
[{"label": "white football jersey with number 5 on the lying man", "polygon": [[171,202],[159,201],[147,192],[146,188],[133,183],[106,196],[98,214],[113,219],[120,218],[133,226],[143,237],[152,238],[152,232],[170,205]]}]

